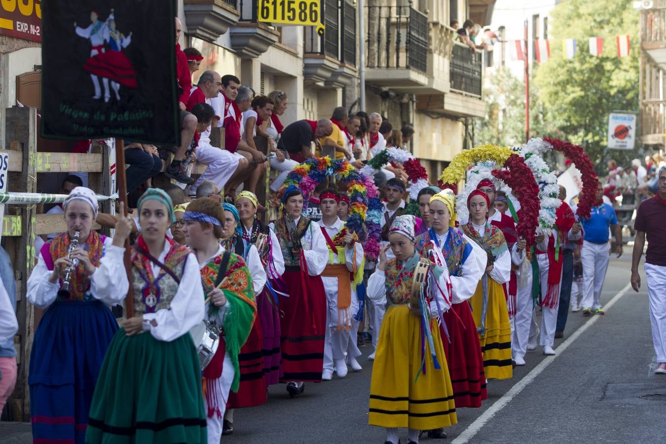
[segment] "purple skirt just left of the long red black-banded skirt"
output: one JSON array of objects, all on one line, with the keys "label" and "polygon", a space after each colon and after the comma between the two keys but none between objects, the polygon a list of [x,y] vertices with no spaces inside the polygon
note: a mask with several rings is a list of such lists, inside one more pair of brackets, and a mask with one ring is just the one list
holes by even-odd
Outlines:
[{"label": "purple skirt just left of the long red black-banded skirt", "polygon": [[256,312],[261,330],[264,333],[264,379],[266,387],[277,384],[282,376],[282,355],[280,354],[280,310],[268,289],[256,298]]}]

